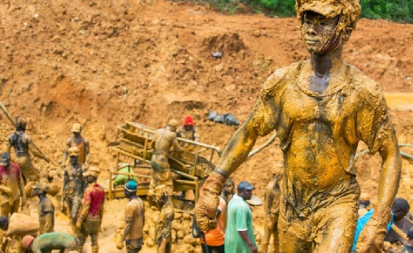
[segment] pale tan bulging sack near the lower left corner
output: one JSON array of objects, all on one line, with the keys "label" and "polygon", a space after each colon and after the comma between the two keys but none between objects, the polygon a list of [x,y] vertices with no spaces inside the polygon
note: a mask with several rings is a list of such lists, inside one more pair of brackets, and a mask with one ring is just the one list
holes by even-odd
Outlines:
[{"label": "pale tan bulging sack near the lower left corner", "polygon": [[37,217],[19,214],[15,212],[10,217],[9,227],[6,231],[7,236],[36,236],[39,231],[39,220]]}]

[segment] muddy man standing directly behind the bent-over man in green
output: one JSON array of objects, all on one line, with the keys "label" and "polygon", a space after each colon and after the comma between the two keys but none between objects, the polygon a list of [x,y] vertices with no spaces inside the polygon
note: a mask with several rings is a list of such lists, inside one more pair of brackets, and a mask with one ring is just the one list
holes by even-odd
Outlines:
[{"label": "muddy man standing directly behind the bent-over man in green", "polygon": [[46,194],[49,187],[45,183],[36,183],[33,186],[33,195],[39,197],[39,233],[38,236],[44,233],[54,231],[54,205]]}]

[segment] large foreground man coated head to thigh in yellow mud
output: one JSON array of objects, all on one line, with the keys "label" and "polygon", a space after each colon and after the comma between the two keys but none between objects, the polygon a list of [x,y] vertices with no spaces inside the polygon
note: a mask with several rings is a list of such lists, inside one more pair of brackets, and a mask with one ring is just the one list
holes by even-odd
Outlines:
[{"label": "large foreground man coated head to thigh in yellow mud", "polygon": [[226,178],[246,160],[258,136],[276,130],[284,152],[280,252],[351,252],[360,194],[354,168],[359,141],[372,154],[379,152],[383,163],[377,205],[361,231],[357,253],[381,252],[401,156],[379,85],[341,58],[360,11],[359,0],[297,0],[301,37],[311,57],[277,70],[264,83],[253,112],[200,190],[195,215],[202,230],[216,226]]}]

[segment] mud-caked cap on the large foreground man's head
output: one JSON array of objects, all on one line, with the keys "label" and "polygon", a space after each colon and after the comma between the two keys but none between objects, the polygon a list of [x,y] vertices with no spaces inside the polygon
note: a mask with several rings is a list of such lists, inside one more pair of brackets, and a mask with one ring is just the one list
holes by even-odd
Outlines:
[{"label": "mud-caked cap on the large foreground man's head", "polygon": [[349,26],[353,30],[356,29],[361,7],[359,0],[296,0],[295,13],[300,22],[306,11],[317,12],[328,18],[340,15],[339,24],[337,25],[338,35]]}]

